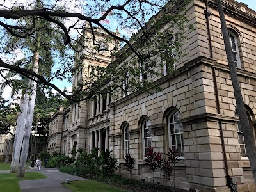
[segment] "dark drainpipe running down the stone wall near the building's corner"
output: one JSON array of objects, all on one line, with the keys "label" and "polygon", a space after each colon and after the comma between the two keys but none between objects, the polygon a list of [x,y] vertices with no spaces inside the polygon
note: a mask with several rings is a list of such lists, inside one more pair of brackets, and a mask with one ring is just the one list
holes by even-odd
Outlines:
[{"label": "dark drainpipe running down the stone wall near the building's corner", "polygon": [[[205,4],[205,19],[206,19],[206,25],[207,25],[207,35],[209,39],[209,51],[210,51],[210,57],[213,58],[212,54],[212,42],[211,42],[211,30],[210,30],[210,24],[209,24],[209,16],[211,15],[211,12],[208,10],[208,1]],[[217,81],[216,81],[216,72],[215,68],[212,67],[212,76],[213,76],[213,82],[214,82],[214,92],[216,95],[216,108],[218,111],[218,114],[220,115],[220,100],[219,100],[219,94],[218,94],[218,88],[217,88]],[[226,148],[225,148],[225,142],[224,142],[224,135],[223,135],[223,127],[222,127],[222,120],[219,119],[219,126],[220,126],[220,138],[221,138],[221,147],[223,151],[223,158],[224,158],[224,164],[225,164],[225,173],[227,175],[227,184],[230,188],[230,191],[234,191],[234,185],[232,182],[232,179],[230,178],[230,175],[228,174],[228,162],[227,162],[227,154],[226,154]]]}]

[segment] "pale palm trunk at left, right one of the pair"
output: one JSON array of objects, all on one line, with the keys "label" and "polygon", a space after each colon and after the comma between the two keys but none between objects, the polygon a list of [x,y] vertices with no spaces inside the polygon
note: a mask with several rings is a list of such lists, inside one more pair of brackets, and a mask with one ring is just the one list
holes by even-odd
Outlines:
[{"label": "pale palm trunk at left, right one of the pair", "polygon": [[[39,65],[39,52],[36,51],[34,53],[33,72],[38,73],[38,65]],[[30,87],[32,90],[32,94],[28,104],[28,115],[26,120],[26,127],[25,127],[25,133],[24,133],[23,144],[22,144],[22,153],[20,156],[20,163],[19,163],[19,170],[17,173],[17,177],[25,177],[25,167],[26,167],[26,161],[28,157],[29,140],[30,140],[33,114],[34,114],[34,108],[35,108],[35,100],[36,100],[36,86],[37,86],[37,83],[35,81],[31,81]]]}]

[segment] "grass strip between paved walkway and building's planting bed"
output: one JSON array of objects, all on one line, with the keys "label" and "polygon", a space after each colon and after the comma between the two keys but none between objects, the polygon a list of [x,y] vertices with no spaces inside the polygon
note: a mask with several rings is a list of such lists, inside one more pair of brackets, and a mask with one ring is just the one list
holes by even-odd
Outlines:
[{"label": "grass strip between paved walkway and building's planting bed", "polygon": [[72,181],[69,184],[64,183],[63,186],[65,186],[68,189],[71,189],[73,192],[128,192],[125,189],[116,188],[111,185],[104,184],[102,182],[97,182],[95,180]]}]

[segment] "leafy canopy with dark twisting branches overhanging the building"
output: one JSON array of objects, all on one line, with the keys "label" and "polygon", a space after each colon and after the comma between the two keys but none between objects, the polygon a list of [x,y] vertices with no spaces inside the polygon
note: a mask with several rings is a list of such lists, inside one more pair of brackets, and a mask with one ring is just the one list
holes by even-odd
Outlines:
[{"label": "leafy canopy with dark twisting branches overhanging the building", "polygon": [[[2,47],[5,47],[0,50],[0,75],[7,84],[12,86],[19,83],[17,79],[20,77],[32,79],[39,84],[54,88],[72,101],[90,99],[96,93],[113,93],[118,88],[122,89],[126,72],[129,71],[133,77],[140,76],[141,67],[138,65],[138,61],[147,62],[148,68],[155,68],[157,65],[163,65],[163,58],[170,60],[166,53],[173,49],[177,51],[177,55],[182,54],[179,47],[182,46],[182,40],[184,40],[184,31],[190,27],[186,17],[180,14],[183,7],[181,3],[186,3],[186,1],[74,0],[70,4],[69,1],[38,0],[37,3],[40,6],[35,7],[30,3],[13,3],[9,6],[3,3],[0,5],[0,35],[3,38],[1,44]],[[66,6],[65,9],[63,6]],[[113,32],[111,25],[103,23],[108,17],[118,23],[117,27],[123,31],[121,35],[117,31]],[[150,17],[152,18],[150,19]],[[57,54],[56,58],[52,58],[56,64],[53,67],[54,70],[51,71],[51,76],[45,76],[42,71],[35,73],[26,68],[27,58],[31,57],[31,52],[28,52],[26,47],[19,44],[6,46],[6,38],[10,35],[15,38],[33,38],[36,31],[41,30],[36,28],[36,22],[40,22],[40,20],[49,22],[56,33],[60,33],[63,37],[62,44],[67,45],[70,50],[61,53],[65,55],[64,59],[58,57]],[[177,30],[164,29],[163,27],[167,24],[170,28]],[[92,39],[84,35],[83,29],[90,31]],[[99,29],[110,37],[106,41],[117,40],[118,46],[111,47],[111,49],[109,47],[102,48],[96,35]],[[124,32],[128,35],[125,35]],[[136,35],[134,35],[135,33]],[[133,36],[130,38],[131,35]],[[175,36],[175,42],[166,48],[168,36]],[[88,41],[92,41],[95,46],[92,48],[88,47],[88,44],[84,44]],[[44,46],[43,42],[39,41],[39,43]],[[53,47],[55,45],[53,42],[49,42],[49,44],[52,44]],[[122,49],[118,51],[120,47]],[[95,51],[108,51],[112,58],[117,59],[109,67],[93,67],[90,74],[92,79],[89,82],[80,82],[80,88],[72,90],[72,92],[63,91],[58,85],[52,83],[54,79],[72,82],[72,75],[83,64],[85,51],[90,54]],[[70,52],[76,52],[76,57]],[[125,61],[127,55],[134,55],[134,59]],[[13,58],[19,58],[19,56],[22,60],[17,63]],[[148,58],[156,58],[156,56],[160,56],[161,60],[148,60]],[[47,61],[47,54],[40,58],[40,61]],[[120,67],[120,63],[125,65]],[[12,76],[6,76],[6,72],[12,72]],[[148,73],[151,76],[161,76],[153,69],[148,70]],[[109,81],[112,83],[102,89]],[[129,84],[131,92],[154,86],[150,81],[141,84],[140,81],[134,81],[134,79],[129,80]]]}]

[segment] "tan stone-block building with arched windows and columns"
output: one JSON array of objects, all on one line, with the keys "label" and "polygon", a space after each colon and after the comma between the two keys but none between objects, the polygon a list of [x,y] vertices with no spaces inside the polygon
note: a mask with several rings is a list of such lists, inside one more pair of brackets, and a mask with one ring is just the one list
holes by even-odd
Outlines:
[{"label": "tan stone-block building with arched windows and columns", "polygon": [[[185,34],[188,40],[182,51],[186,55],[174,63],[175,74],[168,73],[166,67],[159,69],[163,77],[154,81],[161,92],[148,95],[141,90],[129,94],[120,91],[115,98],[97,95],[97,100],[79,104],[80,107],[70,106],[52,117],[48,150],[53,143],[65,155],[71,148],[85,148],[87,152],[92,147],[109,148],[123,174],[128,173],[124,156],[130,153],[136,159],[136,177],[150,180],[152,172],[143,161],[148,147],[163,154],[175,147],[180,156],[176,167],[179,188],[229,191],[228,173],[239,191],[256,191],[243,125],[236,116],[219,14],[214,1],[208,1],[207,6],[205,3],[194,0],[186,5],[186,17],[195,30]],[[256,12],[233,0],[223,1],[223,8],[256,140]],[[84,63],[91,60],[84,58]],[[56,120],[54,127],[52,122]],[[57,135],[58,141],[53,141]]]}]

